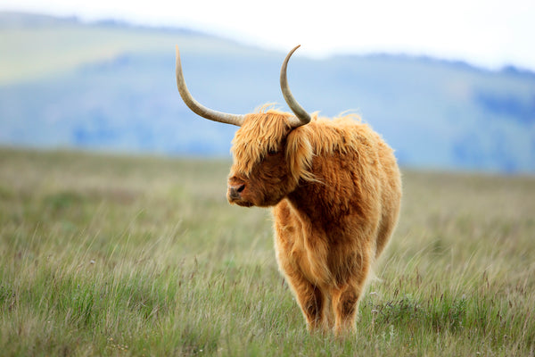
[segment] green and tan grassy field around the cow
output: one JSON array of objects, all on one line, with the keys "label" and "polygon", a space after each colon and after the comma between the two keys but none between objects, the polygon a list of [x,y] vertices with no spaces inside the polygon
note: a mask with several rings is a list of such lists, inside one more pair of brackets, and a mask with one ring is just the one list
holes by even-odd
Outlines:
[{"label": "green and tan grassy field around the cow", "polygon": [[535,355],[535,178],[404,173],[346,339],[310,336],[228,162],[0,149],[3,356]]}]

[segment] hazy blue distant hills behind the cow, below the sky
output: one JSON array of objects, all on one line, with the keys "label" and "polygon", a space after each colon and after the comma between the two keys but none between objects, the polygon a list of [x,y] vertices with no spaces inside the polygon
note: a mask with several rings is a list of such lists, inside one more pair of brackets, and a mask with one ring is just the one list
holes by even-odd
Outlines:
[{"label": "hazy blue distant hills behind the cow, below the sky", "polygon": [[[188,29],[0,12],[0,145],[228,155],[235,128],[196,117],[175,81],[175,45],[202,104],[287,110],[284,53]],[[406,55],[294,55],[309,112],[356,110],[399,162],[439,170],[535,172],[535,74]]]}]

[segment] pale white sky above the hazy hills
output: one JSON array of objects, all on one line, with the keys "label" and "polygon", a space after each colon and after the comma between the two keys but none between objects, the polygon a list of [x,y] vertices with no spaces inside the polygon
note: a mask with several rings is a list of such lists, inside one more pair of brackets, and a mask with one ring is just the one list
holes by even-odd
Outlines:
[{"label": "pale white sky above the hazy hills", "polygon": [[311,56],[425,54],[535,71],[535,0],[2,0],[2,10],[187,27]]}]

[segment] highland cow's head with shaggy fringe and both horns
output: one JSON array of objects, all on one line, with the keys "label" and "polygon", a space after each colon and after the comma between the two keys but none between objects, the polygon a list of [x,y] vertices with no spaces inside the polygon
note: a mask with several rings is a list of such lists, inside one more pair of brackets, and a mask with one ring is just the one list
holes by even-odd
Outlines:
[{"label": "highland cow's head with shaggy fringe and both horns", "polygon": [[278,203],[306,178],[312,160],[309,141],[300,131],[311,120],[288,87],[286,67],[296,46],[286,56],[281,69],[281,89],[293,114],[262,110],[245,115],[213,111],[190,95],[182,73],[177,47],[177,86],[185,104],[203,118],[233,124],[240,129],[233,140],[234,163],[228,176],[226,197],[242,206],[270,206]]}]

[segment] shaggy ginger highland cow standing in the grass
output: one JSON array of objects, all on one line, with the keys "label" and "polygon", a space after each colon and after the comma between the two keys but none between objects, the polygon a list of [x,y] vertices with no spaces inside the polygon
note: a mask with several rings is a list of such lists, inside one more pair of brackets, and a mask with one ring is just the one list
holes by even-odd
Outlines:
[{"label": "shaggy ginger highland cow standing in the grass", "polygon": [[292,113],[263,108],[236,115],[196,102],[185,87],[177,48],[177,86],[198,115],[239,126],[227,199],[273,207],[276,261],[309,330],[355,328],[366,278],[399,215],[401,179],[391,148],[356,115],[328,120],[281,88]]}]

